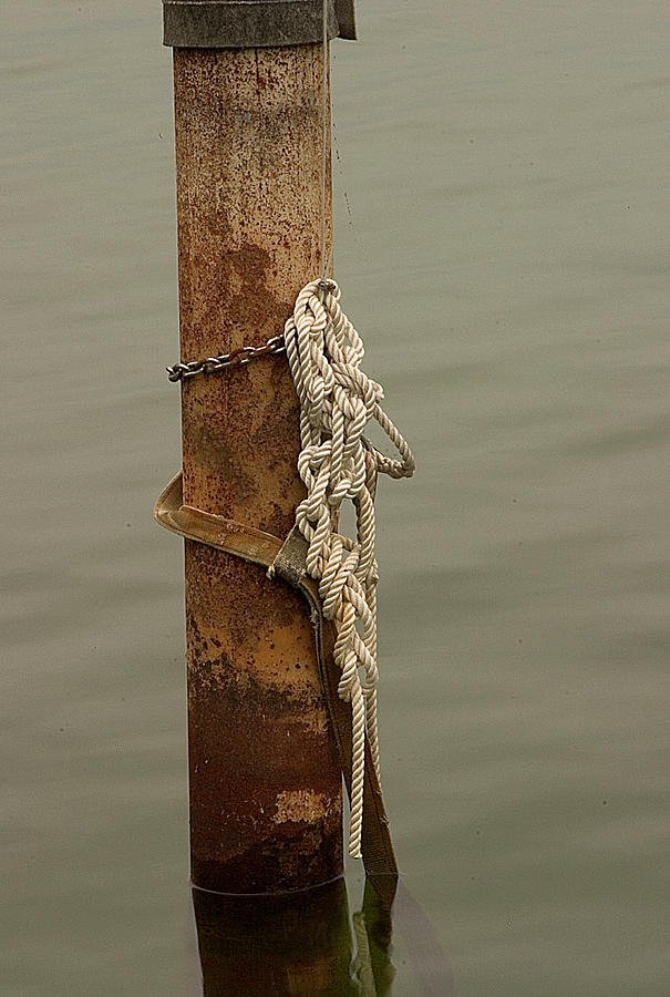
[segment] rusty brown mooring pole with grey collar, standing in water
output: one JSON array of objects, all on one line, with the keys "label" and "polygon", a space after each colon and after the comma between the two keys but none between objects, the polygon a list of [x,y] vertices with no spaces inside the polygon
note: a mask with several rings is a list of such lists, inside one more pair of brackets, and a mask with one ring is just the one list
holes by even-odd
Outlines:
[{"label": "rusty brown mooring pole with grey collar, standing in water", "polygon": [[[329,247],[331,232],[328,53],[322,0],[164,11],[188,362],[281,335],[318,276],[323,209]],[[328,33],[346,33],[332,0]],[[281,356],[184,380],[184,504],[285,537],[305,494],[298,411]],[[306,604],[261,567],[189,539],[185,572],[193,882],[225,893],[328,882],[342,873],[341,772]]]}]

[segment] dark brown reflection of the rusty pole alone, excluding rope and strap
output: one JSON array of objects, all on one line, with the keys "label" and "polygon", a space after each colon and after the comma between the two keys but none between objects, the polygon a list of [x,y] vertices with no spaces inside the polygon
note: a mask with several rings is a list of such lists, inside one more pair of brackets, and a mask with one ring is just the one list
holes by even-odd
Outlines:
[{"label": "dark brown reflection of the rusty pole alone, excluding rope and strap", "polygon": [[194,890],[193,904],[206,997],[359,993],[343,880],[281,897]]}]

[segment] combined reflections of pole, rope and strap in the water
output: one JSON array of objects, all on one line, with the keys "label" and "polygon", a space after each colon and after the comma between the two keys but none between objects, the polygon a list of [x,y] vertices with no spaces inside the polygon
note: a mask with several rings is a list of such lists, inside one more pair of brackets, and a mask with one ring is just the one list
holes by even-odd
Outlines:
[{"label": "combined reflections of pole, rope and strap in the water", "polygon": [[385,997],[393,993],[393,922],[409,947],[413,993],[455,997],[427,917],[400,884],[392,911],[370,882],[349,919],[343,878],[281,896],[193,887],[205,997]]}]

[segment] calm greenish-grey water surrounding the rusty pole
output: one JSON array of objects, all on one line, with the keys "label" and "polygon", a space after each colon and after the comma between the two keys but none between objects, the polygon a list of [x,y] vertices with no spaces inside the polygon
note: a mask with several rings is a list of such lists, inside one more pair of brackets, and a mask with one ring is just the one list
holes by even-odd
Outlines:
[{"label": "calm greenish-grey water surrounding the rusty pole", "polygon": [[[660,997],[664,6],[359,6],[336,273],[419,462],[379,512],[401,864],[462,997]],[[3,29],[14,997],[198,989],[181,549],[151,517],[179,460],[159,20],[34,0]]]}]

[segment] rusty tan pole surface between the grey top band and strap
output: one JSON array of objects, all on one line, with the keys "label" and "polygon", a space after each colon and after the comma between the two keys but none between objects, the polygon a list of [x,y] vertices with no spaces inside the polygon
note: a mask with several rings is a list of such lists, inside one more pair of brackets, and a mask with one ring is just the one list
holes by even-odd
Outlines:
[{"label": "rusty tan pole surface between the grey top band and strap", "polygon": [[[176,49],[174,62],[182,360],[192,360],[281,332],[318,273],[322,62],[319,45]],[[285,535],[302,496],[286,362],[182,390],[185,501]]]}]

